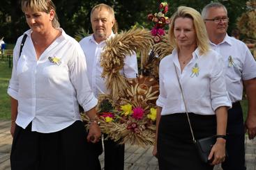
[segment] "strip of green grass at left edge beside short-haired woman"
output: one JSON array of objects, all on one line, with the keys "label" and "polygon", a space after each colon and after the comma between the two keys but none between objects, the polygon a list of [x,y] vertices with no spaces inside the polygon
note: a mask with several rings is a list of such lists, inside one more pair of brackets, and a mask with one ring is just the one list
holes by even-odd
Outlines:
[{"label": "strip of green grass at left edge beside short-haired woman", "polygon": [[8,62],[0,62],[0,119],[10,120],[10,98],[7,94],[9,84],[10,68]]}]

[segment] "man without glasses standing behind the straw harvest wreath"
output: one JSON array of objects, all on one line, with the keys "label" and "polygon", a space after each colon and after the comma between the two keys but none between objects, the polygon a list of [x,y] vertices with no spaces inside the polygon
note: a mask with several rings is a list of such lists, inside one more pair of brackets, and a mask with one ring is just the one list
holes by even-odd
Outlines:
[{"label": "man without glasses standing behind the straw harvest wreath", "polygon": [[[114,10],[100,3],[91,10],[91,26],[93,34],[84,37],[80,45],[86,56],[87,73],[91,89],[96,97],[98,94],[108,94],[105,79],[101,77],[103,68],[100,67],[100,54],[103,52],[105,40],[114,36],[112,28],[115,24]],[[121,74],[126,78],[136,78],[137,57],[127,56]],[[124,145],[108,139],[104,140],[105,170],[121,170],[124,163]]]}]

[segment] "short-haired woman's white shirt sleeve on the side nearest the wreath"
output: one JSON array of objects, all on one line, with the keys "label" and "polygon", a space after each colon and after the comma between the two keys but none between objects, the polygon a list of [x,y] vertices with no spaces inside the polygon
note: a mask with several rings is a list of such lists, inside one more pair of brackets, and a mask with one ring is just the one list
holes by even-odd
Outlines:
[{"label": "short-haired woman's white shirt sleeve on the side nearest the wreath", "polygon": [[74,50],[74,56],[70,61],[70,80],[77,92],[77,101],[82,105],[84,111],[91,110],[98,103],[98,100],[93,95],[86,74],[86,61],[84,53],[77,44]]}]

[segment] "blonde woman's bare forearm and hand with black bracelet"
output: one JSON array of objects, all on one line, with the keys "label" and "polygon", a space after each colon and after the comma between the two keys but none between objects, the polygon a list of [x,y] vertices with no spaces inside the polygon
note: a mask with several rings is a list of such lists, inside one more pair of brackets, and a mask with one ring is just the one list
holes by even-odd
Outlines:
[{"label": "blonde woman's bare forearm and hand with black bracelet", "polygon": [[[216,109],[216,119],[217,119],[217,135],[226,135],[227,129],[227,107],[220,106]],[[213,162],[211,164],[220,164],[225,160],[225,146],[226,139],[223,137],[217,137],[216,143],[211,148],[211,153],[209,154],[208,160],[213,157]]]}]

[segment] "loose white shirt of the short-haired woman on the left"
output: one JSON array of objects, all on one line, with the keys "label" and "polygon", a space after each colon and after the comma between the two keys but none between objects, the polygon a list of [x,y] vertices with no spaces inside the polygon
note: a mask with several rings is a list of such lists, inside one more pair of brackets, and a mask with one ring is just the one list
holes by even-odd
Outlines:
[{"label": "loose white shirt of the short-haired woman on the left", "polygon": [[[18,101],[16,124],[32,131],[52,133],[80,120],[78,103],[84,110],[96,106],[86,77],[86,63],[80,44],[60,28],[59,36],[40,58],[31,40],[31,30],[19,58],[22,37],[13,51],[13,73],[8,94]],[[49,57],[60,59],[59,65]]]}]

